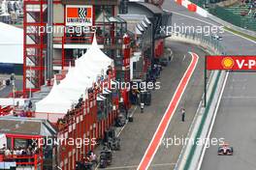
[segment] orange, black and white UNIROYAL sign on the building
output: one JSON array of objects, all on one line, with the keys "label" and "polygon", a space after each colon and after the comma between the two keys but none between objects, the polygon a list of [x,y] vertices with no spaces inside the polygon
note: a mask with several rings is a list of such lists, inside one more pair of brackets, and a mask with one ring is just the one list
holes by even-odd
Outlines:
[{"label": "orange, black and white UNIROYAL sign on the building", "polygon": [[67,26],[92,26],[92,6],[66,6]]}]

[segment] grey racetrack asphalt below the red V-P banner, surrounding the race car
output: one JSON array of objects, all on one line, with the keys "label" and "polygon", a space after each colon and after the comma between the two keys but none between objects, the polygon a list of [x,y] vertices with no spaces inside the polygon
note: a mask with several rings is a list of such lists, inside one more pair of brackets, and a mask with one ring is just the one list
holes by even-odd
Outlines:
[{"label": "grey racetrack asphalt below the red V-P banner, surrounding the race car", "polygon": [[202,170],[256,169],[255,83],[254,72],[230,73],[210,138],[225,138],[234,156],[217,156],[217,146],[211,146]]}]

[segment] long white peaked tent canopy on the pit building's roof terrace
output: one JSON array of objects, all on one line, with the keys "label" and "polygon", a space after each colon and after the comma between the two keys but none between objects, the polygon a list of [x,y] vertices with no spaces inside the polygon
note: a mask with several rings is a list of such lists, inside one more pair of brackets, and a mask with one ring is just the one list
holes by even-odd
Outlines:
[{"label": "long white peaked tent canopy on the pit building's roof terrace", "polygon": [[99,48],[94,35],[92,45],[76,60],[75,67],[69,68],[66,77],[58,85],[54,81],[45,99],[36,102],[36,117],[56,122],[72,104],[77,103],[81,96],[84,97],[86,89],[92,87],[97,76],[106,73],[112,63],[112,59]]}]

